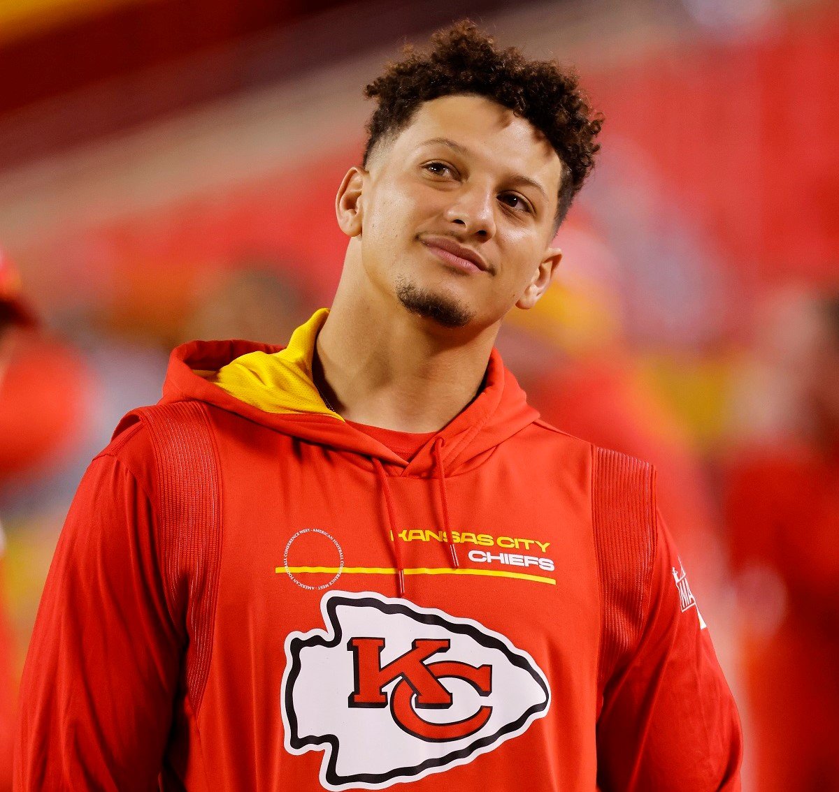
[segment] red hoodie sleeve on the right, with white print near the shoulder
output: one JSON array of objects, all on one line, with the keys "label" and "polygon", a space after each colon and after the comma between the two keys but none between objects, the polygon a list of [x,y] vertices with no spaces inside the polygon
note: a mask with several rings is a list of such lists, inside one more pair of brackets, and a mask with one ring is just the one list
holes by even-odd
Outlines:
[{"label": "red hoodie sleeve on the right, with white print near the shoulder", "polygon": [[603,691],[598,784],[604,792],[737,790],[737,707],[657,510],[654,530],[640,638]]}]

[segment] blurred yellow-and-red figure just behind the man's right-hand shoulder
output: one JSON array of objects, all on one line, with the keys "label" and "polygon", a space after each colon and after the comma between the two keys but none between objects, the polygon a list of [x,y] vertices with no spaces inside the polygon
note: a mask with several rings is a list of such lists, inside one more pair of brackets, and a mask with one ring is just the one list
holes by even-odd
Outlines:
[{"label": "blurred yellow-and-red figure just behind the man's right-hand shoulder", "polygon": [[[582,266],[576,261],[576,270],[562,272],[532,311],[516,314],[508,324],[516,326],[519,339],[529,334],[531,342],[514,358],[513,344],[504,344],[505,360],[512,358],[509,365],[546,421],[655,466],[659,505],[691,586],[716,598],[725,565],[720,520],[701,458],[629,348],[618,278],[602,261]],[[536,339],[542,339],[542,349]]]}]

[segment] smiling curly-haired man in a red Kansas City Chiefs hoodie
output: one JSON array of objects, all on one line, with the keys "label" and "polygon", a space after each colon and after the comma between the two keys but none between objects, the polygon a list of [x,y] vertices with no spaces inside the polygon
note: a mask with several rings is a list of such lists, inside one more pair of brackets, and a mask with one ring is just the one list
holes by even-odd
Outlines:
[{"label": "smiling curly-haired man in a red Kansas City Chiefs hoodie", "polygon": [[23,680],[19,789],[737,789],[654,476],[492,344],[600,121],[470,23],[367,87],[331,311],[176,350],[92,463]]}]

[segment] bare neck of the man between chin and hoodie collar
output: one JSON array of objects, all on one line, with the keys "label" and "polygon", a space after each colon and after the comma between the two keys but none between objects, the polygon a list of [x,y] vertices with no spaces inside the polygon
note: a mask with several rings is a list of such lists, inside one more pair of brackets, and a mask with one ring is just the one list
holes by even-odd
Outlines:
[{"label": "bare neck of the man between chin and hoodie collar", "polygon": [[318,334],[315,383],[349,421],[436,432],[477,396],[497,334],[441,328],[342,279]]}]

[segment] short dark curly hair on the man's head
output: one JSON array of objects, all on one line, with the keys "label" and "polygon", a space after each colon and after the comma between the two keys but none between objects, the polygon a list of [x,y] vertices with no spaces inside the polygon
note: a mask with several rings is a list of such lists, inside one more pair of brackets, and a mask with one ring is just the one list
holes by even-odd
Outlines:
[{"label": "short dark curly hair on the man's head", "polygon": [[603,117],[593,111],[574,72],[552,60],[526,60],[519,49],[495,42],[465,19],[431,37],[430,53],[408,44],[404,59],[389,63],[364,89],[378,106],[367,123],[362,164],[377,143],[402,132],[425,101],[452,94],[486,96],[545,135],[563,164],[555,226],[594,167]]}]

